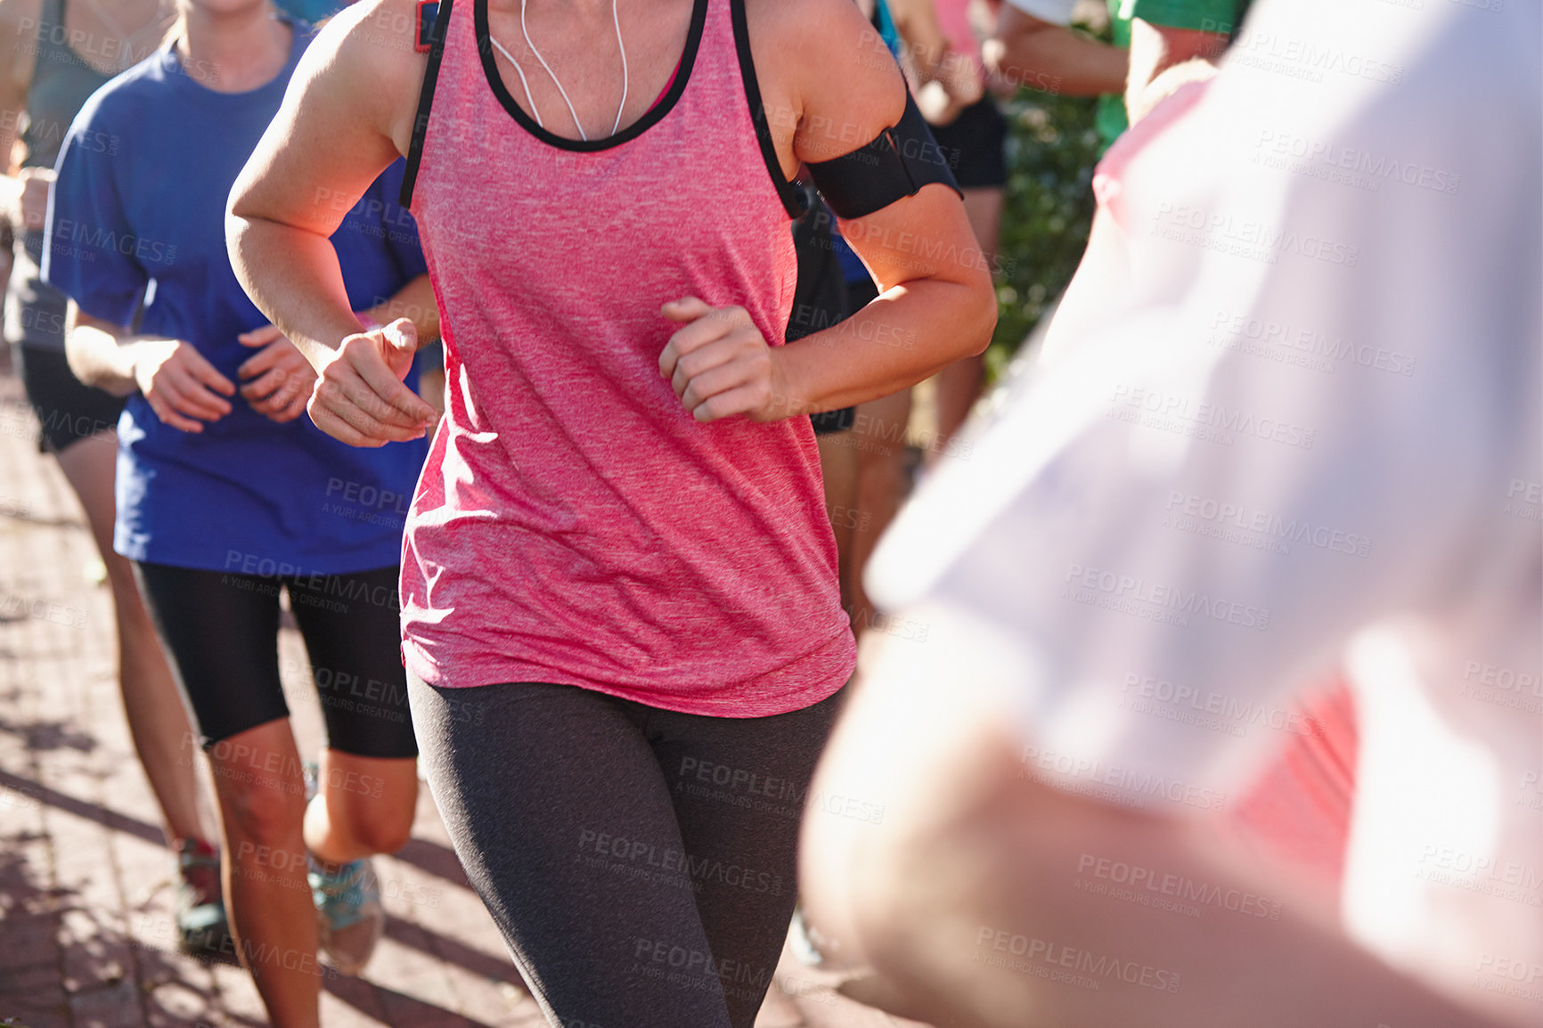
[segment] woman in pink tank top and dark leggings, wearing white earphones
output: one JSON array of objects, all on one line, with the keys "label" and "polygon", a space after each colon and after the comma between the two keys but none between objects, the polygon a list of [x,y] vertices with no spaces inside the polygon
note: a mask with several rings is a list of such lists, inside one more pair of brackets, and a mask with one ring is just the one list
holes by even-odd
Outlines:
[{"label": "woman in pink tank top and dark leggings, wearing white earphones", "polygon": [[[319,245],[409,156],[449,381],[401,580],[435,801],[554,1025],[750,1028],[801,809],[883,820],[805,795],[853,641],[804,415],[980,352],[989,273],[849,0],[458,0],[423,39],[410,0],[335,19],[231,258],[319,428],[421,435],[410,324],[346,324]],[[833,205],[883,293],[785,344],[804,162],[873,201]]]}]

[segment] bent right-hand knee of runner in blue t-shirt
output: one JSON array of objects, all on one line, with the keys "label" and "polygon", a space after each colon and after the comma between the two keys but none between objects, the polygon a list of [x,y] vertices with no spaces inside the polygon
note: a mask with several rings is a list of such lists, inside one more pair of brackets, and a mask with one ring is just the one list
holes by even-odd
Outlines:
[{"label": "bent right-hand knee of runner in blue t-shirt", "polygon": [[355,756],[322,750],[319,790],[306,807],[306,844],[341,864],[393,854],[412,834],[418,809],[417,758]]}]

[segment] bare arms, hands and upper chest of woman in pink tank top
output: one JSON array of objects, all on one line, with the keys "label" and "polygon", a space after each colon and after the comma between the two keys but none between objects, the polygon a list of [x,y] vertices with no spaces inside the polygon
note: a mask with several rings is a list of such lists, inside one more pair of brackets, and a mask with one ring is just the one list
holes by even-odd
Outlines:
[{"label": "bare arms, hands and upper chest of woman in pink tank top", "polygon": [[[633,74],[622,125],[636,120],[668,79],[690,11],[687,0],[619,5]],[[517,57],[518,14],[515,0],[489,3],[492,34],[511,40]],[[313,205],[310,198],[316,190],[356,196],[407,150],[424,66],[407,39],[412,15],[406,0],[375,0],[335,19],[231,193],[233,264],[259,307],[319,369],[312,418],[358,446],[415,438],[434,414],[401,386],[403,364],[392,357],[412,344],[414,330],[393,324],[390,333],[360,333],[350,323],[336,259],[321,245],[338,215],[335,205]],[[883,45],[849,0],[750,0],[747,15],[784,174],[793,176],[805,159],[852,150],[900,119],[901,76],[893,62],[873,59]],[[616,52],[593,40],[611,28],[609,3],[529,3],[526,20],[543,56],[560,62],[572,80],[579,119],[603,133],[619,97]],[[383,32],[397,25],[403,45],[381,45]],[[512,69],[505,74],[514,83],[511,94],[525,102]],[[539,110],[565,110],[542,77],[532,77],[531,90]],[[579,137],[566,117],[549,128]],[[319,139],[329,145],[309,145]],[[773,347],[742,309],[711,309],[691,296],[660,309],[662,323],[680,326],[662,347],[660,375],[693,417],[770,421],[838,409],[896,392],[984,349],[995,323],[989,275],[980,261],[926,256],[975,252],[957,194],[929,185],[844,222],[842,232],[883,287],[842,332]],[[921,253],[918,238],[929,244]],[[870,341],[892,332],[907,332],[915,346]]]}]

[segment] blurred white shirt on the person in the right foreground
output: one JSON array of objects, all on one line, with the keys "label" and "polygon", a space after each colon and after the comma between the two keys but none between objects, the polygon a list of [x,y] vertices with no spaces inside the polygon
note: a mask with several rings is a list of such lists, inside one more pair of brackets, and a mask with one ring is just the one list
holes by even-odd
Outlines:
[{"label": "blurred white shirt on the person in the right foreground", "polygon": [[1345,928],[1520,1023],[1543,1013],[1540,46],[1537,3],[1256,3],[1122,170],[1120,316],[1012,386],[867,573],[912,625],[876,685],[1006,687],[1028,766],[1154,812],[1227,809],[1342,662]]}]

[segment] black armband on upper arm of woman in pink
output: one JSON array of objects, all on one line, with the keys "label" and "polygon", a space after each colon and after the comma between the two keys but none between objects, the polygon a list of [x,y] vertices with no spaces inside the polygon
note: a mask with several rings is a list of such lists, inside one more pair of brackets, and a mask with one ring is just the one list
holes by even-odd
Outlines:
[{"label": "black armband on upper arm of woman in pink", "polygon": [[872,215],[934,182],[960,193],[947,154],[932,139],[910,93],[898,125],[849,154],[810,162],[809,174],[838,218]]}]

